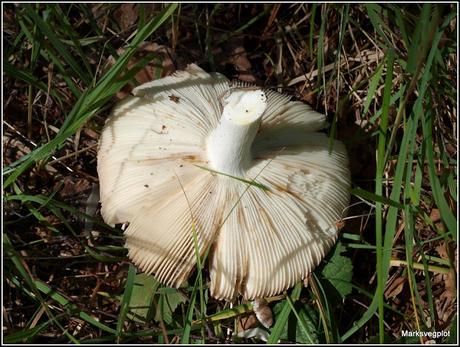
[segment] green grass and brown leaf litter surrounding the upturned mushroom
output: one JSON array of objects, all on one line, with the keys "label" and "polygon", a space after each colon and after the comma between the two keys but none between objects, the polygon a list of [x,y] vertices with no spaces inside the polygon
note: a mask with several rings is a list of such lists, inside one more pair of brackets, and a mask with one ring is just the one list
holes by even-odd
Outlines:
[{"label": "green grass and brown leaf litter surrounding the upturned mushroom", "polygon": [[284,87],[349,151],[338,245],[268,298],[267,342],[455,342],[456,4],[2,6],[6,343],[258,341],[238,337],[251,303],[209,296],[208,252],[163,287],[90,206],[113,103],[191,62]]}]

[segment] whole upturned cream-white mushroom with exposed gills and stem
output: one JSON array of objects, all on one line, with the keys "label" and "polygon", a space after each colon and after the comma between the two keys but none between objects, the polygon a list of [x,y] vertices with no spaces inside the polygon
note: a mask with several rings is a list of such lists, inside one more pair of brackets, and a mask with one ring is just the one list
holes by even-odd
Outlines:
[{"label": "whole upturned cream-white mushroom with exposed gills and stem", "polygon": [[98,152],[102,216],[128,223],[129,257],[180,286],[211,247],[217,299],[276,295],[335,243],[349,202],[343,144],[325,116],[191,64],[133,90]]}]

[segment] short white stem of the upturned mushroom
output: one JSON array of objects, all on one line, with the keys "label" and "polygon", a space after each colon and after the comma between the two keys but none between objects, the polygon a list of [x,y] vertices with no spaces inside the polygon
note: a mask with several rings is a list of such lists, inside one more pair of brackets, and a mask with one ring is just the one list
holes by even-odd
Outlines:
[{"label": "short white stem of the upturned mushroom", "polygon": [[261,90],[235,90],[227,96],[219,125],[207,140],[208,159],[214,170],[242,176],[250,167],[251,145],[266,106]]}]

